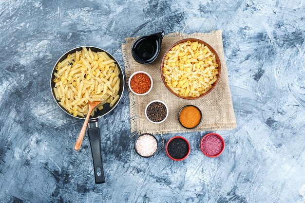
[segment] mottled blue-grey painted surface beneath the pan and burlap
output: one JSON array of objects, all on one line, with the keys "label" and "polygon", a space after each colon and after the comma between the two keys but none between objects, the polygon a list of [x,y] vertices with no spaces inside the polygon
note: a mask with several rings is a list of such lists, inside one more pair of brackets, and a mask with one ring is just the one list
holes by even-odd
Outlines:
[{"label": "mottled blue-grey painted surface beneath the pan and burlap", "polygon": [[[123,64],[125,37],[181,32],[189,22],[185,32],[208,32],[210,21],[224,30],[238,124],[217,131],[223,154],[205,157],[201,132],[179,134],[191,143],[185,161],[164,149],[136,155],[125,88],[99,121],[107,183],[95,185],[87,136],[73,149],[82,121],[52,98],[54,63],[93,45]],[[304,37],[301,0],[0,0],[0,202],[303,203]]]}]

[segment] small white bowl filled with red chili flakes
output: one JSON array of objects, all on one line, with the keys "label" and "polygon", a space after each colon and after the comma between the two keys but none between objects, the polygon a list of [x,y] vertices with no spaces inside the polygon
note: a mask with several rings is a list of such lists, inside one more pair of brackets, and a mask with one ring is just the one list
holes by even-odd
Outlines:
[{"label": "small white bowl filled with red chili flakes", "polygon": [[152,77],[144,71],[138,71],[130,76],[128,85],[134,94],[145,95],[152,90]]}]

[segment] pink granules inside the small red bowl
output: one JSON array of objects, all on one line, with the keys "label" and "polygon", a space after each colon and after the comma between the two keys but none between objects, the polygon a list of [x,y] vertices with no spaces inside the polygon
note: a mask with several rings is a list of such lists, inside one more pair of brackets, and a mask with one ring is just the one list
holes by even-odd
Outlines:
[{"label": "pink granules inside the small red bowl", "polygon": [[202,140],[202,149],[210,156],[218,155],[223,149],[222,140],[216,135],[208,135]]}]

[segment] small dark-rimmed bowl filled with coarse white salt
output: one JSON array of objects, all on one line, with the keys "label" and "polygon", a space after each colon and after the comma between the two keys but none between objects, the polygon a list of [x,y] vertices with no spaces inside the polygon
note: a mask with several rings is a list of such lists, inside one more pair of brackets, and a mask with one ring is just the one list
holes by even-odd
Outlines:
[{"label": "small dark-rimmed bowl filled with coarse white salt", "polygon": [[134,149],[141,157],[151,157],[158,149],[158,140],[152,134],[141,134],[134,142]]}]

